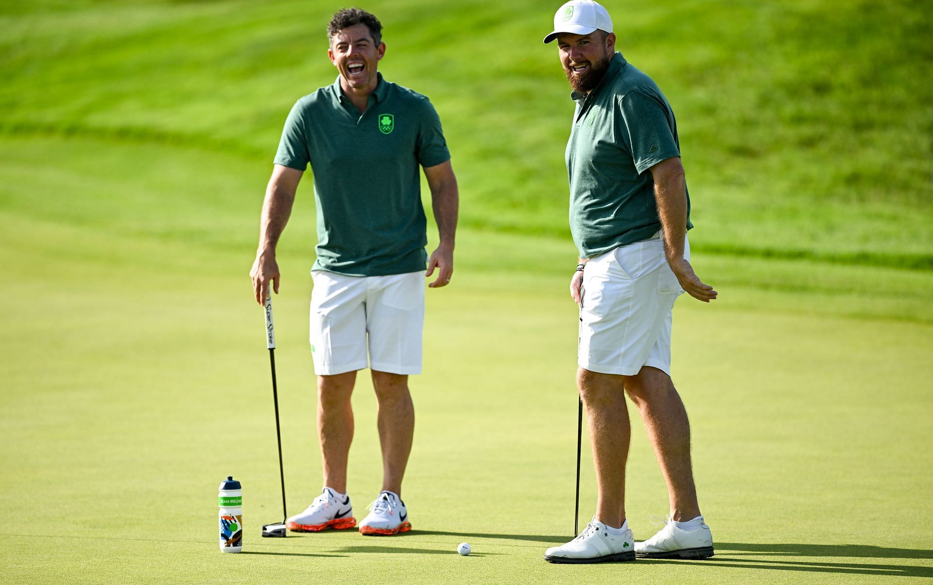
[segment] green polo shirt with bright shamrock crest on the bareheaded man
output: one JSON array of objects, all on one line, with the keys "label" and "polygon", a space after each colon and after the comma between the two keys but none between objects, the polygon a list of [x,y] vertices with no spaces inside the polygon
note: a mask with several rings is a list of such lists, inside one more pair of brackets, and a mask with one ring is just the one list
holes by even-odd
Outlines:
[{"label": "green polo shirt with bright shamrock crest on the bareheaded man", "polygon": [[333,85],[292,107],[275,163],[311,163],[317,204],[312,270],[384,276],[425,270],[419,165],[449,160],[428,99],[379,75],[363,115]]}]

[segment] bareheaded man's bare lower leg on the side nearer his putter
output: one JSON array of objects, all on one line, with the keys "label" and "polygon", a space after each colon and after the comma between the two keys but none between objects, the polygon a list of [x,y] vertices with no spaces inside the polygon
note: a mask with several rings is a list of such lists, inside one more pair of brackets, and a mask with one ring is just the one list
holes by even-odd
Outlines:
[{"label": "bareheaded man's bare lower leg on the side nearer his putter", "polygon": [[355,382],[355,371],[317,377],[317,436],[324,485],[341,494],[347,491],[347,456],[354,430],[350,397]]}]

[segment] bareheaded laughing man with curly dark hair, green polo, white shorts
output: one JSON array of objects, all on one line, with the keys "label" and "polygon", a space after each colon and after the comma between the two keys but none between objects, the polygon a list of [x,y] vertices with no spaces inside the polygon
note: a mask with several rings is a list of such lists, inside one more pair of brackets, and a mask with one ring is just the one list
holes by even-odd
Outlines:
[{"label": "bareheaded laughing man with curly dark hair, green polo, white shorts", "polygon": [[[359,531],[411,530],[401,499],[414,432],[408,377],[421,373],[425,276],[437,269],[437,280],[428,286],[440,287],[453,273],[457,185],[434,107],[377,72],[385,54],[382,28],[376,17],[356,8],[341,10],[327,25],[327,55],[340,75],[333,85],[301,98],[285,121],[250,272],[260,304],[271,283],[278,293],[275,244],[310,163],[318,238],[311,351],[324,490],[288,519],[294,531],[356,525],[346,494],[354,432],[350,395],[356,370],[367,366],[379,402],[383,486]],[[440,232],[430,259],[419,166]]]}]

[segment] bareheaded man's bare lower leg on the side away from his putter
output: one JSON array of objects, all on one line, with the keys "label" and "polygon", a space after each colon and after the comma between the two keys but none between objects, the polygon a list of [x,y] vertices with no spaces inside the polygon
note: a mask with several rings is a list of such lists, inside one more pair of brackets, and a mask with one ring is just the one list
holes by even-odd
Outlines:
[{"label": "bareheaded man's bare lower leg on the side away from his putter", "polygon": [[372,387],[379,402],[379,443],[383,448],[383,491],[401,497],[402,478],[414,436],[414,405],[408,376],[372,370]]}]

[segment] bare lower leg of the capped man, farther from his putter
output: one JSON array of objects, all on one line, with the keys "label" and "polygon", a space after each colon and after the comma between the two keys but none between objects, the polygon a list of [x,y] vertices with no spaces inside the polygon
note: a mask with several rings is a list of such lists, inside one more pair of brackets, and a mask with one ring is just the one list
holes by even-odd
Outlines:
[{"label": "bare lower leg of the capped man, farther from his putter", "polygon": [[686,522],[700,515],[690,464],[687,410],[670,376],[646,366],[625,376],[625,391],[638,408],[667,483],[671,518]]}]

